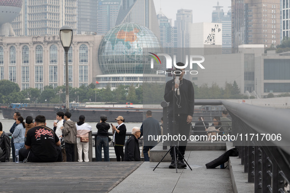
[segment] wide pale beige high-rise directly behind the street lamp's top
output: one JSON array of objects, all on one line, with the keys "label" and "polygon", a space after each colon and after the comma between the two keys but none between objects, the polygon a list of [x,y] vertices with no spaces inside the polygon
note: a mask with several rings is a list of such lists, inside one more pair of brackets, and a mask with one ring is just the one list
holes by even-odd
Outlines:
[{"label": "wide pale beige high-rise directly behind the street lamp's top", "polygon": [[58,35],[63,25],[77,31],[77,0],[23,0],[20,15],[11,23],[17,36]]}]

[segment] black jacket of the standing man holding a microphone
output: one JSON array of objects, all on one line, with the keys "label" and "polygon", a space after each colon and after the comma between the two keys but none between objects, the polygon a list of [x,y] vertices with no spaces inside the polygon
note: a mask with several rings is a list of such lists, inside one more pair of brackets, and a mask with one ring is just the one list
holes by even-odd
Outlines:
[{"label": "black jacket of the standing man holding a microphone", "polygon": [[173,96],[175,114],[186,114],[193,116],[194,111],[194,90],[193,85],[189,80],[182,79],[179,84],[180,95],[172,91],[173,80],[166,82],[164,99],[169,102],[169,115],[173,115]]}]

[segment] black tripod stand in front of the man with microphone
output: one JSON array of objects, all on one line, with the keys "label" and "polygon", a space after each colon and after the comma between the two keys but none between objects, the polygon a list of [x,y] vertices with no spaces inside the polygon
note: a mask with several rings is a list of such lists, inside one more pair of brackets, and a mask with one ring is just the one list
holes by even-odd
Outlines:
[{"label": "black tripod stand in front of the man with microphone", "polygon": [[[175,70],[172,71],[173,72],[173,88],[175,87]],[[174,90],[173,90],[174,91]],[[175,121],[175,93],[176,91],[173,92],[173,121],[172,121],[172,130],[173,133],[175,134],[176,132],[176,121]],[[169,148],[169,150],[166,152],[166,154],[162,157],[162,159],[158,162],[157,166],[153,169],[153,171],[158,167],[158,165],[162,162],[162,160],[165,158],[165,156],[172,150],[173,148],[173,152],[174,152],[174,161],[175,161],[175,169],[176,169],[176,173],[177,173],[177,157],[176,157],[176,152],[178,152],[179,156],[182,157],[182,160],[185,161],[186,165],[190,168],[190,166],[188,165],[188,163],[186,162],[184,156],[181,154],[181,152],[178,150],[176,142]],[[190,170],[192,170],[190,168]]]}]

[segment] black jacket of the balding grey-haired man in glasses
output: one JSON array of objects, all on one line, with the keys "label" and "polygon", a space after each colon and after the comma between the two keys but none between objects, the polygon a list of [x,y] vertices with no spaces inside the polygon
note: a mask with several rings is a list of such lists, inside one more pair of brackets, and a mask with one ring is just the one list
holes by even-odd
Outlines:
[{"label": "black jacket of the balding grey-haired man in glasses", "polygon": [[134,135],[131,135],[126,142],[124,161],[140,161],[139,143]]}]

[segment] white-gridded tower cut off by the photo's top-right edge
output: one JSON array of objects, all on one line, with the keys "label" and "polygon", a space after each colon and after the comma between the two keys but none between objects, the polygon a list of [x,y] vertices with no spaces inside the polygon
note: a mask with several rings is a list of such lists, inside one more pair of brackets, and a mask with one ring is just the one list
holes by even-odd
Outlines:
[{"label": "white-gridded tower cut off by the photo's top-right edge", "polygon": [[[289,13],[290,13],[290,3],[289,0],[281,0],[281,8],[282,8],[282,39],[284,37],[290,37],[290,17],[289,17]],[[277,30],[278,32],[278,30]]]}]

